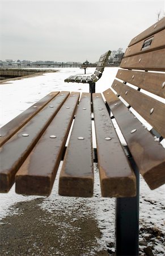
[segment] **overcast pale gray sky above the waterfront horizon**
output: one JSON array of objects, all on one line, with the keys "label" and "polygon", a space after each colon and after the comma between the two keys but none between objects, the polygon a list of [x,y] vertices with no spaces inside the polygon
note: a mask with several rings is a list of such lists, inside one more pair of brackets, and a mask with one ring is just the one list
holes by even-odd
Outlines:
[{"label": "overcast pale gray sky above the waterfront horizon", "polygon": [[0,0],[0,60],[95,62],[165,12],[165,1]]}]

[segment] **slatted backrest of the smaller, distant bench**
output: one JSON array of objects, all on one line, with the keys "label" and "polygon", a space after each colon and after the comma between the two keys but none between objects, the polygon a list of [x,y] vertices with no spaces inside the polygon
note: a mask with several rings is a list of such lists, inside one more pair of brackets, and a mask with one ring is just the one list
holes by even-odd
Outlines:
[{"label": "slatted backrest of the smaller, distant bench", "polygon": [[111,51],[108,51],[108,52],[105,52],[104,54],[102,54],[100,56],[100,59],[99,59],[97,65],[96,65],[96,70],[95,70],[94,74],[91,75],[92,80],[94,82],[98,81],[100,79],[100,77],[102,76],[103,71],[104,71],[104,67],[107,64],[108,57],[109,57],[110,54],[111,54]]}]

